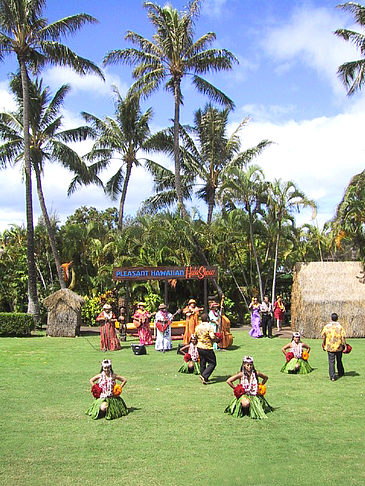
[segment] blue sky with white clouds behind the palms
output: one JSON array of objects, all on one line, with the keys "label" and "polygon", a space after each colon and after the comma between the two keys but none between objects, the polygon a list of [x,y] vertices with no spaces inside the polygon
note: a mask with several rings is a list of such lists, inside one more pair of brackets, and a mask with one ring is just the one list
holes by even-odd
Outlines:
[{"label": "blue sky with white clouds behind the palms", "polygon": [[[164,5],[163,1],[156,1]],[[182,10],[187,0],[172,0]],[[364,169],[365,93],[348,97],[337,77],[338,66],[359,59],[355,47],[336,37],[338,28],[353,28],[348,12],[336,8],[338,2],[316,0],[205,0],[196,23],[196,38],[215,32],[213,47],[225,48],[239,60],[232,71],[207,76],[235,103],[229,118],[233,131],[245,117],[249,122],[241,132],[242,148],[263,139],[273,143],[255,159],[268,180],[293,181],[318,206],[315,223],[322,226],[335,213],[351,178]],[[102,66],[105,54],[112,49],[131,47],[124,40],[128,30],[144,37],[153,34],[143,2],[140,0],[49,0],[44,12],[54,21],[86,12],[98,19],[96,25],[83,27],[76,36],[63,42],[79,55]],[[0,64],[0,110],[15,109],[9,94],[9,73],[17,69],[14,57]],[[68,68],[46,67],[41,77],[55,91],[71,85],[63,108],[64,127],[83,124],[82,111],[99,117],[112,116],[112,85],[122,95],[132,83],[131,68],[115,65],[104,69],[105,82],[95,76],[80,77]],[[208,99],[189,84],[183,83],[184,105],[181,122],[192,123],[194,111]],[[151,130],[171,124],[172,95],[161,89],[143,102],[142,109],[152,107]],[[81,154],[91,147],[78,147]],[[142,154],[143,155],[143,154]],[[152,158],[152,157],[151,157]],[[154,155],[168,164],[172,161]],[[106,181],[116,170],[117,162],[102,174]],[[64,222],[80,206],[99,210],[118,206],[96,186],[88,186],[67,196],[72,174],[57,164],[45,167],[43,187],[51,214]],[[25,222],[24,182],[20,167],[0,171],[0,231]],[[153,182],[143,168],[135,169],[127,194],[125,214],[134,215],[141,202],[153,192]],[[204,216],[204,203],[194,201]],[[40,215],[34,186],[35,221]],[[297,216],[297,223],[310,223],[311,212]]]}]

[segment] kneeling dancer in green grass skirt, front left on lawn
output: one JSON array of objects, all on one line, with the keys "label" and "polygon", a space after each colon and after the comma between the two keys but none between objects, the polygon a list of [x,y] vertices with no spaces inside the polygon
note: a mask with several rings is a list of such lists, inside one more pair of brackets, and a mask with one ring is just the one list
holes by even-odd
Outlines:
[{"label": "kneeling dancer in green grass skirt, front left on lawn", "polygon": [[[116,380],[120,381],[120,385]],[[100,373],[90,378],[91,393],[95,400],[86,410],[87,415],[94,420],[104,416],[107,420],[111,420],[128,415],[127,406],[120,397],[126,383],[127,380],[123,376],[113,372],[111,360],[104,359],[101,362]]]}]

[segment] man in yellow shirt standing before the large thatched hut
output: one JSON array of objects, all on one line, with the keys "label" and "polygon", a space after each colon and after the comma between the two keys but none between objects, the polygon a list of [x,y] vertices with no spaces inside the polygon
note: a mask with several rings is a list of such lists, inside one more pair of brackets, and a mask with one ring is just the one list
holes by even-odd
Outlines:
[{"label": "man in yellow shirt standing before the large thatched hut", "polygon": [[334,312],[331,314],[331,322],[326,324],[322,329],[323,337],[322,348],[327,351],[330,380],[335,381],[335,360],[337,362],[337,374],[340,378],[344,375],[345,370],[342,364],[342,353],[346,349],[345,330],[338,320],[338,315]]}]

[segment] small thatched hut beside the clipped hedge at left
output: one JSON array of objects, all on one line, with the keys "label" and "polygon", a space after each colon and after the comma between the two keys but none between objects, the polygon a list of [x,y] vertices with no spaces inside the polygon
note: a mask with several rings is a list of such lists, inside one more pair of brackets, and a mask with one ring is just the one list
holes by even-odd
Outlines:
[{"label": "small thatched hut beside the clipped hedge at left", "polygon": [[80,334],[84,299],[70,289],[57,290],[43,300],[48,311],[47,335],[75,337]]}]

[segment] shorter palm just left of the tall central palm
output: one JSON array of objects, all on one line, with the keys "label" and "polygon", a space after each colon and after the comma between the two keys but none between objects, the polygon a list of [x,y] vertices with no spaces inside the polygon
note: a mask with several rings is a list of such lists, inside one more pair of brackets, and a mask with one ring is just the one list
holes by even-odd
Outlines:
[{"label": "shorter palm just left of the tall central palm", "polygon": [[[148,124],[152,118],[152,109],[148,108],[142,113],[137,95],[130,95],[123,99],[117,88],[114,88],[114,93],[116,94],[115,118],[106,117],[101,120],[90,113],[82,113],[86,122],[91,123],[97,133],[97,140],[86,156],[88,160],[96,160],[89,168],[94,178],[90,177],[85,181],[82,177],[76,177],[69,192],[72,192],[77,184],[99,182],[98,173],[107,167],[112,159],[120,158],[120,166],[108,180],[105,191],[113,199],[121,194],[118,218],[118,229],[121,230],[129,180],[133,167],[141,165],[138,152],[143,150],[150,135]],[[153,165],[152,161],[149,162]]]}]

